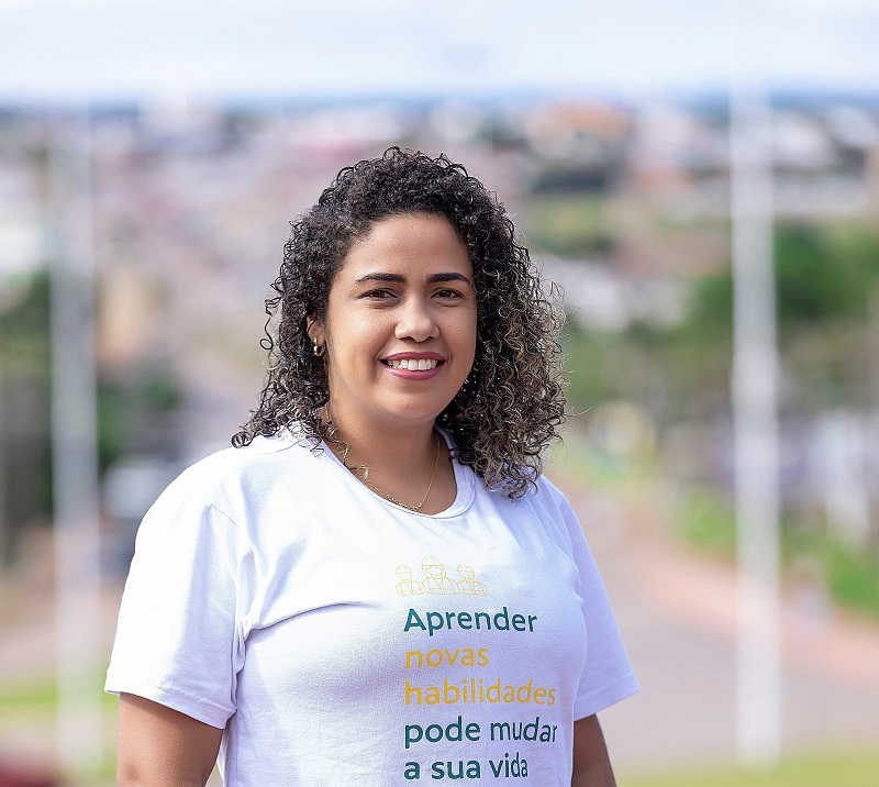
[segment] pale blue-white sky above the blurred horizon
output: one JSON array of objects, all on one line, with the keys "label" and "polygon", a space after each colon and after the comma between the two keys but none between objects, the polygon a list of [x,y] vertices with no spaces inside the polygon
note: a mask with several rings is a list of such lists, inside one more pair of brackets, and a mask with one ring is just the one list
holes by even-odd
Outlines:
[{"label": "pale blue-white sky above the blurred horizon", "polygon": [[644,98],[722,89],[731,62],[877,93],[879,0],[0,0],[0,101]]}]

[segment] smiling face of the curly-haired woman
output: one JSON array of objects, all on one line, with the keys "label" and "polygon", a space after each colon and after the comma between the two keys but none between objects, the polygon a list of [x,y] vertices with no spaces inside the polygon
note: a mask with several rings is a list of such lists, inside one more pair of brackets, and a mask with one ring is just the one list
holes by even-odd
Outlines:
[{"label": "smiling face of the curly-haired woman", "polygon": [[394,215],[355,242],[309,331],[326,344],[333,420],[433,424],[474,364],[477,303],[467,247],[436,215]]}]

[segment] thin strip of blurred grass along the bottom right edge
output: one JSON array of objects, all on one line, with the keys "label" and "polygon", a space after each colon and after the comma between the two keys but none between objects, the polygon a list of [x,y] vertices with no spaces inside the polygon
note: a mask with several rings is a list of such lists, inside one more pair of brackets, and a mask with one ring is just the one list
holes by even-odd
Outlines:
[{"label": "thin strip of blurred grass along the bottom right edge", "polygon": [[620,787],[876,787],[879,750],[832,752],[786,757],[770,771],[736,766],[622,774]]}]

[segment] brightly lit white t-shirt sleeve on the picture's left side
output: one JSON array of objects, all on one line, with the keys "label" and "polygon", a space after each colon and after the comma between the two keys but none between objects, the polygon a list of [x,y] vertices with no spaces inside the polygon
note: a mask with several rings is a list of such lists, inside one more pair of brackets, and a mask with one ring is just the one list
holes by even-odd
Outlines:
[{"label": "brightly lit white t-shirt sleeve on the picture's left side", "polygon": [[235,712],[241,562],[234,523],[186,475],[137,532],[105,690],[222,729]]}]

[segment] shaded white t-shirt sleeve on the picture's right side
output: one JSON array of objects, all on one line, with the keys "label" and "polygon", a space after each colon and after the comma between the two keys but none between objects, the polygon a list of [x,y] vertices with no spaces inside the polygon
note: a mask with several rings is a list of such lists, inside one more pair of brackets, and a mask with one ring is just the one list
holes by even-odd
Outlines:
[{"label": "shaded white t-shirt sleeve on the picture's right side", "polygon": [[592,551],[568,501],[559,492],[559,507],[571,540],[580,575],[579,595],[586,620],[586,666],[580,677],[574,718],[583,719],[638,690],[604,583]]}]

